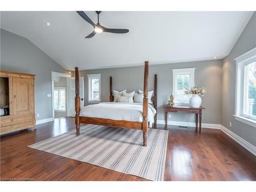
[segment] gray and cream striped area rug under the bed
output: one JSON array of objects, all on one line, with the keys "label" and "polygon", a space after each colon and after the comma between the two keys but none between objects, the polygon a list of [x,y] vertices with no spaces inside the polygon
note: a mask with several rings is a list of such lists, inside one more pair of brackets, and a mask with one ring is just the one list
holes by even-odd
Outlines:
[{"label": "gray and cream striped area rug under the bed", "polygon": [[149,129],[147,147],[142,131],[87,124],[29,145],[36,150],[87,162],[125,174],[162,181],[168,131]]}]

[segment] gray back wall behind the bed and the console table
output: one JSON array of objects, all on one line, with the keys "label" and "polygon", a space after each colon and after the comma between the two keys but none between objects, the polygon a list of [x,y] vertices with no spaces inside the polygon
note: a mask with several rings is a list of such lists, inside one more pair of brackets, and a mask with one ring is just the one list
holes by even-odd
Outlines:
[{"label": "gray back wall behind the bed and the console table", "polygon": [[[207,88],[207,93],[202,99],[202,106],[206,108],[203,111],[203,123],[220,124],[221,123],[221,91],[222,91],[222,60],[196,61],[172,63],[164,65],[150,65],[149,67],[149,90],[154,89],[154,74],[158,74],[158,119],[164,120],[163,104],[166,104],[169,95],[172,93],[173,71],[179,68],[196,68],[195,82],[198,86]],[[87,74],[101,74],[101,101],[109,101],[109,77],[113,77],[113,89],[121,91],[127,89],[127,92],[143,89],[143,66],[87,70],[80,71],[84,77],[84,98],[87,101]],[[85,102],[84,105],[88,105]],[[91,103],[90,103],[91,104]],[[195,115],[186,112],[172,113],[172,121],[194,122]],[[170,120],[170,119],[169,119]]]}]

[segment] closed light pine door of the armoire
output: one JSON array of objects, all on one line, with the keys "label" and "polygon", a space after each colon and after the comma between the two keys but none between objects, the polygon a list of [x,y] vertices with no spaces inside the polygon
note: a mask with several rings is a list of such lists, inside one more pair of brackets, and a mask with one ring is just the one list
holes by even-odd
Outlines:
[{"label": "closed light pine door of the armoire", "polygon": [[32,79],[13,78],[13,114],[33,113],[34,82]]}]

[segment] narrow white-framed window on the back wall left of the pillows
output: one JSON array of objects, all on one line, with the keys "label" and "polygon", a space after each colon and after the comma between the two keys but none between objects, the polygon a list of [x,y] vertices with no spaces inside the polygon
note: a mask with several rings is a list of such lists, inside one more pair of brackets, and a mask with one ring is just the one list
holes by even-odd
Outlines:
[{"label": "narrow white-framed window on the back wall left of the pillows", "polygon": [[88,75],[88,101],[100,101],[100,74]]}]

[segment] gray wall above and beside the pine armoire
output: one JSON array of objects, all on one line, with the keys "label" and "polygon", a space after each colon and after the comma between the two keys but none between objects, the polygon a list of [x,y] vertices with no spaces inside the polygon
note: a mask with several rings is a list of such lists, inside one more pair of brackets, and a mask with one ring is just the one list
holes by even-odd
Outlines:
[{"label": "gray wall above and beside the pine armoire", "polygon": [[52,117],[51,71],[66,73],[28,39],[1,29],[1,70],[35,74],[35,114],[37,120]]}]

